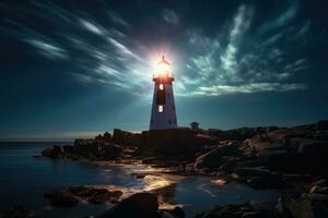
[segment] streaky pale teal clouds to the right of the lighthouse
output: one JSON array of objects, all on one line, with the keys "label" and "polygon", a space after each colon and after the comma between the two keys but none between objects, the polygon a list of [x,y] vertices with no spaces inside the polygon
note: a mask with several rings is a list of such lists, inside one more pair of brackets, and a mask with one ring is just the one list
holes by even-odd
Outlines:
[{"label": "streaky pale teal clouds to the right of the lighthouse", "polygon": [[[308,25],[301,29],[293,27],[280,29],[282,24],[292,20],[297,5],[291,5],[274,21],[266,22],[278,33],[262,35],[251,29],[255,9],[241,5],[232,17],[232,25],[212,38],[202,35],[201,31],[189,31],[189,43],[194,46],[194,55],[186,64],[188,74],[178,85],[178,95],[227,95],[236,93],[289,92],[304,89],[306,84],[292,83],[295,72],[308,68],[306,57],[289,57],[289,46],[281,47],[284,41],[291,43],[290,35],[306,33]],[[270,23],[270,25],[268,24]],[[268,27],[266,27],[268,28]],[[192,33],[192,34],[190,34]],[[257,40],[255,40],[257,39]],[[297,40],[293,38],[293,43]],[[221,41],[227,41],[225,45]],[[286,82],[288,81],[288,82]]]}]

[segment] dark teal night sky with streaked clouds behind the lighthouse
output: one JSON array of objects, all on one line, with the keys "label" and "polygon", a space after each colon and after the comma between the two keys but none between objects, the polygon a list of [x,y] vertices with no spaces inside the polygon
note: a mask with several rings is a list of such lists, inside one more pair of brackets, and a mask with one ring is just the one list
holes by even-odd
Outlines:
[{"label": "dark teal night sky with streaked clouds behind the lighthouse", "polygon": [[0,140],[149,129],[154,63],[201,128],[328,118],[323,1],[0,2]]}]

